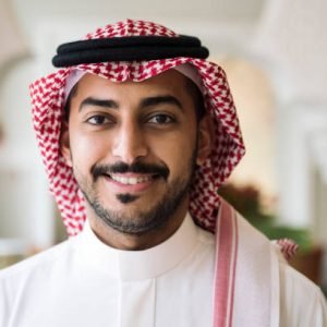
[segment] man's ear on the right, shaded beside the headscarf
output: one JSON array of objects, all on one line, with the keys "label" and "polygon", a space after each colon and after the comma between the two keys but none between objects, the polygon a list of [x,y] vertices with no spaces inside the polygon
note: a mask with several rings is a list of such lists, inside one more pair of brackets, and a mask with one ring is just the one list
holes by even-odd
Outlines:
[{"label": "man's ear on the right, shaded beside the headscarf", "polygon": [[196,156],[196,164],[198,166],[202,166],[210,155],[214,140],[213,135],[211,118],[206,114],[198,123],[198,144]]}]

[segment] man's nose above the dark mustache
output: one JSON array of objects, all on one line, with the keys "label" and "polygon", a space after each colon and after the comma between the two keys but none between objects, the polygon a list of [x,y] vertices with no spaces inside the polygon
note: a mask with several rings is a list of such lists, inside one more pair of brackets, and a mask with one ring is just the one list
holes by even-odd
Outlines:
[{"label": "man's nose above the dark mustache", "polygon": [[112,155],[125,164],[148,155],[144,132],[136,122],[123,123],[114,135]]}]

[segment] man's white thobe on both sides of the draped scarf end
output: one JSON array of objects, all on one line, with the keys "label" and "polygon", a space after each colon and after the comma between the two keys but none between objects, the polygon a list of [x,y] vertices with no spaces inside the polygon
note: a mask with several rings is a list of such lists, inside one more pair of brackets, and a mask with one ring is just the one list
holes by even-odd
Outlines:
[{"label": "man's white thobe on both sides of the draped scarf end", "polygon": [[[86,223],[80,235],[0,271],[0,326],[210,327],[214,257],[215,238],[190,216],[145,251],[112,249]],[[280,326],[327,326],[319,289],[283,262],[279,270]]]}]

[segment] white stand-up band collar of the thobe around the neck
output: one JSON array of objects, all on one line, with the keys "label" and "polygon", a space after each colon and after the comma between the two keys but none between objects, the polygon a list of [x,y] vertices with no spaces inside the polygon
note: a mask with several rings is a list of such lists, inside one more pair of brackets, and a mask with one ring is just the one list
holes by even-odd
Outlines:
[{"label": "white stand-up band collar of the thobe around the neck", "polygon": [[197,243],[197,228],[187,214],[181,227],[164,243],[143,251],[123,251],[102,243],[86,221],[77,237],[82,263],[121,280],[155,278],[182,262]]}]

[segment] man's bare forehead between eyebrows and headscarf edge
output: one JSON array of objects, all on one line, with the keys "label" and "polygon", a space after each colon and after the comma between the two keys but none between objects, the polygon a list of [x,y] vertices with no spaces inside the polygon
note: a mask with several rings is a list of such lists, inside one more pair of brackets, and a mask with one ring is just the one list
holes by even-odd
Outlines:
[{"label": "man's bare forehead between eyebrows and headscarf edge", "polygon": [[95,74],[86,73],[77,84],[77,96],[101,95],[102,93],[143,95],[145,94],[173,94],[185,93],[187,77],[171,69],[161,74],[142,82],[125,81],[112,82]]}]

